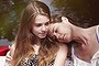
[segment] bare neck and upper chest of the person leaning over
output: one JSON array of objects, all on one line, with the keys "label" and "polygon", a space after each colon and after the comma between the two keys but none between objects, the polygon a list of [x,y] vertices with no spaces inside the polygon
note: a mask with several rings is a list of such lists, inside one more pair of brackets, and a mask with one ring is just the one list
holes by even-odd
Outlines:
[{"label": "bare neck and upper chest of the person leaning over", "polygon": [[[78,36],[74,37],[74,40],[78,42],[78,46],[75,51],[79,58],[90,62],[94,54],[99,50],[99,45],[96,42],[96,26],[89,29],[77,28],[77,31],[75,31],[75,35]],[[92,47],[94,50],[91,50]]]}]

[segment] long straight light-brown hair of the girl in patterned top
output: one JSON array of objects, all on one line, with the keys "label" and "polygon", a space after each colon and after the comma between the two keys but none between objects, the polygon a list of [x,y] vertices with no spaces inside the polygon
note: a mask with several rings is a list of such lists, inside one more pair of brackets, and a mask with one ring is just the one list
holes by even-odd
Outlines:
[{"label": "long straight light-brown hair of the girl in patterned top", "polygon": [[[37,42],[36,36],[32,33],[33,21],[37,14],[46,15],[51,20],[48,7],[40,1],[31,2],[23,11],[21,24],[15,37],[15,50],[12,59],[12,66],[21,66],[24,58],[30,58],[34,54],[33,45]],[[53,57],[56,56],[58,45],[56,42],[50,41],[46,36],[41,44],[38,51],[37,66],[47,65]]]}]

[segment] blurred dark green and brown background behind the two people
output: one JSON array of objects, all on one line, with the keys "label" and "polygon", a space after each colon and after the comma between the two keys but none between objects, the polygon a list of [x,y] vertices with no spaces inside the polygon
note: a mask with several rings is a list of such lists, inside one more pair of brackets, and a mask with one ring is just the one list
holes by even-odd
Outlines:
[{"label": "blurred dark green and brown background behind the two people", "polygon": [[[34,0],[0,0],[0,45],[11,45],[25,6]],[[51,14],[65,14],[81,28],[99,24],[99,0],[40,0]]]}]

